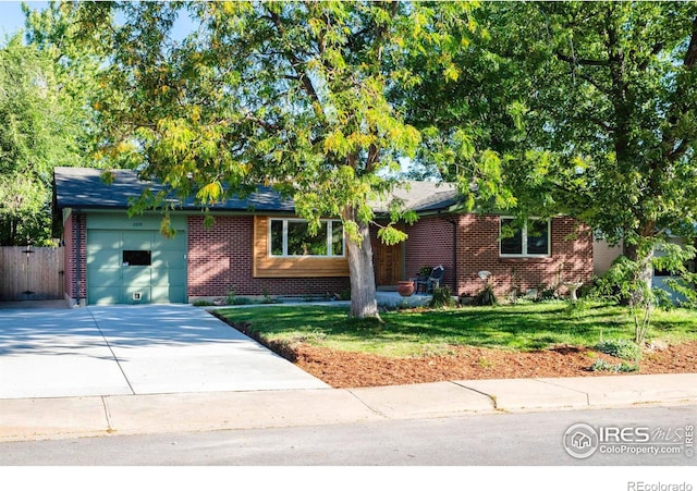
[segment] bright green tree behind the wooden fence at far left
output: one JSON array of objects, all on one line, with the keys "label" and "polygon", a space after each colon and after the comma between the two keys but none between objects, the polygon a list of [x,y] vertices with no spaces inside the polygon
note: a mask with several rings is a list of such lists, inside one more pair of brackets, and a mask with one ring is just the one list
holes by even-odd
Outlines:
[{"label": "bright green tree behind the wooden fence at far left", "polygon": [[24,10],[26,39],[0,46],[0,245],[51,243],[52,169],[90,165],[94,134],[96,64],[77,56],[57,4]]}]

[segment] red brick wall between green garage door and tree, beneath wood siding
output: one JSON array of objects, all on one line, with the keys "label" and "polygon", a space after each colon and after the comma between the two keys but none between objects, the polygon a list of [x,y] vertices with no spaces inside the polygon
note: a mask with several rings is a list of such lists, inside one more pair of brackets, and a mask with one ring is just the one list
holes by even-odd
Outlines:
[{"label": "red brick wall between green garage door and tree, beneath wood siding", "polygon": [[254,278],[253,217],[217,217],[210,229],[203,217],[188,218],[189,296],[323,295],[348,289],[348,278]]}]

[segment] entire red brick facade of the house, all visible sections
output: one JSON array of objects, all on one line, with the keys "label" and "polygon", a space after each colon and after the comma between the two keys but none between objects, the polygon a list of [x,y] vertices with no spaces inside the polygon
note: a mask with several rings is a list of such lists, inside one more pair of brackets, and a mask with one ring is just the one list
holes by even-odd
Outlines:
[{"label": "entire red brick facade of the house, all visible sections", "polygon": [[[476,294],[482,287],[478,272],[491,272],[498,295],[513,287],[546,289],[561,281],[587,283],[592,277],[590,230],[570,218],[551,220],[551,255],[545,258],[502,258],[499,255],[500,218],[494,214],[423,217],[405,226],[404,272],[413,278],[421,266],[443,265],[443,283],[453,294]],[[456,234],[454,230],[456,225]],[[204,218],[187,218],[188,297],[235,295],[323,295],[348,290],[341,278],[254,278],[254,217],[217,217],[210,229]],[[80,233],[80,257],[76,234]],[[86,216],[71,213],[64,223],[65,294],[75,300],[80,262],[80,299],[86,298]],[[453,242],[456,237],[456,248]],[[375,240],[375,237],[374,237]],[[376,265],[377,267],[377,265]]]}]

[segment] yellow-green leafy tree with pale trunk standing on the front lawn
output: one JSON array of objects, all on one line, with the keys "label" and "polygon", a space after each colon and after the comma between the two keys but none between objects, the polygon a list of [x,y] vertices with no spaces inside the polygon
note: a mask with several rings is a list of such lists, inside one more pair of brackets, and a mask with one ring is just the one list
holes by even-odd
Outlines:
[{"label": "yellow-green leafy tree with pale trunk standing on the front lawn", "polygon": [[[100,106],[105,158],[195,195],[203,207],[265,183],[294,199],[310,230],[321,217],[340,217],[351,315],[378,317],[369,202],[394,186],[389,171],[421,140],[387,95],[415,82],[403,59],[455,42],[441,32],[474,26],[473,4],[124,3],[119,25],[111,5],[78,8],[86,32],[108,33],[100,39],[112,61],[105,81],[120,94]],[[172,26],[185,14],[199,27],[174,39]],[[453,76],[449,50],[429,64]],[[395,208],[392,219],[400,217]],[[392,223],[378,234],[387,243],[405,238]]]}]

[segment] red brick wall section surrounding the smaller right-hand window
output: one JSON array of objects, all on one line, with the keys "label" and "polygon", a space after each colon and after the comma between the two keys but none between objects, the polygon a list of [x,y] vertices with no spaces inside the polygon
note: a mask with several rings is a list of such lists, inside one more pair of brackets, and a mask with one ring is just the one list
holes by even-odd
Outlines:
[{"label": "red brick wall section surrounding the smaller right-hand window", "polygon": [[590,230],[573,219],[552,219],[551,255],[546,258],[499,257],[499,216],[463,214],[458,220],[458,294],[481,290],[481,270],[491,272],[489,281],[498,295],[508,295],[514,286],[525,293],[559,284],[560,280],[586,283],[592,277]]}]

